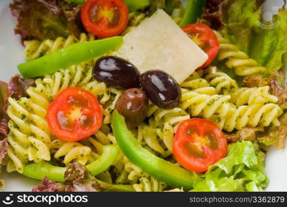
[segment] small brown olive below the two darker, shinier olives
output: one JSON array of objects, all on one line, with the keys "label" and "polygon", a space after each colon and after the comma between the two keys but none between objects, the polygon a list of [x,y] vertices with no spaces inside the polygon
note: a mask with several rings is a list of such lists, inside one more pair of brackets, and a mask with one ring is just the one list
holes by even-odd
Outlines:
[{"label": "small brown olive below the two darker, shinier olives", "polygon": [[145,119],[148,106],[149,99],[145,92],[139,88],[130,88],[124,90],[115,103],[115,110],[124,116],[127,126],[133,128]]}]

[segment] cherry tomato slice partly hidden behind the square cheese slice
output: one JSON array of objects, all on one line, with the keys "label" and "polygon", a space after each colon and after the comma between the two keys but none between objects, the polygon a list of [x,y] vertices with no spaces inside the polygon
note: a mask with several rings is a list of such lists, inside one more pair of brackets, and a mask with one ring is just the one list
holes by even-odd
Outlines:
[{"label": "cherry tomato slice partly hidden behind the square cheese slice", "polygon": [[209,66],[219,52],[219,39],[212,29],[203,23],[187,24],[182,29],[208,55],[207,61],[198,69]]}]

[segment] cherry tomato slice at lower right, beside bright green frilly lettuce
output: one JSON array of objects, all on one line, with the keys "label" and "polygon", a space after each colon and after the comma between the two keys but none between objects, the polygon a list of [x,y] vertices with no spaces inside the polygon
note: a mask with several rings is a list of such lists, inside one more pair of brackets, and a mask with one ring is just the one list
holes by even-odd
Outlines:
[{"label": "cherry tomato slice at lower right, beside bright green frilly lettuce", "polygon": [[194,172],[205,172],[225,157],[228,145],[223,132],[212,121],[187,119],[178,126],[173,152],[178,163]]}]

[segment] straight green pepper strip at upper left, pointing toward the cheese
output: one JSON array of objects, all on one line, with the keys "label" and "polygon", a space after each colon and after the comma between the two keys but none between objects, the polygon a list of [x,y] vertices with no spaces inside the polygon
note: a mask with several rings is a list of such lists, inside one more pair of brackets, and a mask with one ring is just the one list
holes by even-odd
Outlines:
[{"label": "straight green pepper strip at upper left, pointing toward the cheese", "polygon": [[33,61],[21,63],[18,66],[23,77],[33,78],[41,75],[56,72],[60,68],[67,68],[83,61],[88,61],[94,57],[104,55],[120,46],[122,37],[110,37],[95,41],[75,43],[71,46],[57,50],[56,52],[44,55]]}]

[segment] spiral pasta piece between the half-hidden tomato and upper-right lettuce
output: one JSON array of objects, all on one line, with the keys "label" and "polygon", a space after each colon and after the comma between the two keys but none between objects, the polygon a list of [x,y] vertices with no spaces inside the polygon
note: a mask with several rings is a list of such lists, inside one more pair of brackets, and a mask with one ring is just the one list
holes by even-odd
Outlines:
[{"label": "spiral pasta piece between the half-hidden tomato and upper-right lettuce", "polygon": [[234,72],[239,76],[251,76],[266,72],[266,68],[258,66],[257,61],[248,57],[245,52],[240,51],[237,46],[221,36],[219,32],[214,31],[219,39],[219,61],[225,61],[225,66],[234,68]]}]

